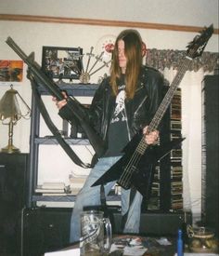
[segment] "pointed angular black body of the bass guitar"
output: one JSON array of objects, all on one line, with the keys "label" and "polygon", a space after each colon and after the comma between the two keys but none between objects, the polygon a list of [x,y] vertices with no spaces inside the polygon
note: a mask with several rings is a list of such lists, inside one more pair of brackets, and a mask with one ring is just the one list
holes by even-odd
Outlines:
[{"label": "pointed angular black body of the bass guitar", "polygon": [[124,189],[135,187],[143,196],[148,197],[153,181],[154,168],[158,161],[170,153],[184,139],[180,138],[165,145],[148,146],[144,154],[138,153],[137,147],[142,134],[137,133],[122,151],[122,157],[92,186],[117,181]]}]

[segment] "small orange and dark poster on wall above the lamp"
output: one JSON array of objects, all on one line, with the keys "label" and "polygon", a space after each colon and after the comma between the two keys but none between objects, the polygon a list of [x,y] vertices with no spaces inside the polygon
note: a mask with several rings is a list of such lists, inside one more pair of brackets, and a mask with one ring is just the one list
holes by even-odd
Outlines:
[{"label": "small orange and dark poster on wall above the lamp", "polygon": [[0,60],[0,82],[22,82],[23,61]]}]

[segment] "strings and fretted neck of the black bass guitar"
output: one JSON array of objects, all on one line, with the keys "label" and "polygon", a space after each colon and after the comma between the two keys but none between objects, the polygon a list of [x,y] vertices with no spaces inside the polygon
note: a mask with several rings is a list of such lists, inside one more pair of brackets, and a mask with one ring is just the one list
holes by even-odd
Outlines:
[{"label": "strings and fretted neck of the black bass guitar", "polygon": [[[190,62],[191,62],[190,59],[185,58],[185,60],[182,64],[182,67],[180,67],[180,69],[178,69],[178,71],[177,71],[177,74],[175,74],[174,80],[172,83],[174,86],[173,86],[173,88],[172,88],[172,86],[170,87],[170,89],[167,91],[166,95],[164,96],[163,100],[161,101],[161,105],[160,105],[156,115],[154,116],[154,118],[152,119],[152,121],[150,122],[150,124],[148,126],[148,133],[158,127],[162,116],[164,115],[166,109],[169,106],[169,104],[167,104],[166,101],[170,101],[173,99],[175,90],[178,88],[181,80],[183,79],[184,74],[186,74],[188,64]],[[132,167],[134,167],[139,162],[141,156],[144,155],[147,148],[148,148],[148,144],[145,142],[144,136],[143,136],[142,139],[140,140],[140,142],[138,143],[134,154],[128,161],[127,166],[125,167],[125,169],[122,173],[122,176],[119,180],[119,183],[124,188],[128,189],[130,187],[131,178],[132,178],[132,174],[133,174]]]}]

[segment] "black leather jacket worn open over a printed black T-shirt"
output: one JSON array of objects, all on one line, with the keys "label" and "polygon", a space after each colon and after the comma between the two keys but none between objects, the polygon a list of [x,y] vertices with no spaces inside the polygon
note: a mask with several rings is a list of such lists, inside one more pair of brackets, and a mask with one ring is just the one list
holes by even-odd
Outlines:
[{"label": "black leather jacket worn open over a printed black T-shirt", "polygon": [[[99,135],[107,142],[110,117],[116,97],[112,95],[110,78],[105,78],[97,88],[88,113],[88,119]],[[129,139],[149,124],[162,99],[163,76],[153,68],[142,67],[134,99],[125,101]]]}]

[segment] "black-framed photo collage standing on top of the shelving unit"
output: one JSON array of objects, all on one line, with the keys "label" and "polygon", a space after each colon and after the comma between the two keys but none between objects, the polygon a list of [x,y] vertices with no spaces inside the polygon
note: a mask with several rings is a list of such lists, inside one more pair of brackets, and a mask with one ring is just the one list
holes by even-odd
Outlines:
[{"label": "black-framed photo collage standing on top of the shelving unit", "polygon": [[82,56],[81,47],[43,47],[42,70],[52,78],[79,79]]}]

